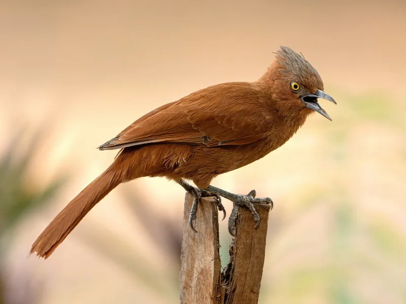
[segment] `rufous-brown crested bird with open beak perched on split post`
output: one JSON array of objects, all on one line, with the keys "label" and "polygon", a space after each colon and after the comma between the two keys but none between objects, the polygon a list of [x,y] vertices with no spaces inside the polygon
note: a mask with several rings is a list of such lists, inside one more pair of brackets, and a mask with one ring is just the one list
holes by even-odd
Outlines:
[{"label": "rufous-brown crested bird with open beak perched on split post", "polygon": [[257,227],[259,216],[253,203],[273,206],[273,201],[256,198],[255,191],[229,193],[211,185],[212,179],[282,146],[312,112],[331,121],[318,98],[336,104],[324,93],[319,73],[301,53],[281,46],[274,54],[256,81],[222,83],[193,92],[150,111],[100,145],[100,150],[118,150],[113,163],[56,215],[32,244],[30,254],[48,258],[116,186],[145,176],[174,180],[192,195],[189,224],[194,231],[202,196],[215,196],[224,217],[221,197],[233,202],[228,220],[231,235],[236,236],[240,207],[249,208]]}]

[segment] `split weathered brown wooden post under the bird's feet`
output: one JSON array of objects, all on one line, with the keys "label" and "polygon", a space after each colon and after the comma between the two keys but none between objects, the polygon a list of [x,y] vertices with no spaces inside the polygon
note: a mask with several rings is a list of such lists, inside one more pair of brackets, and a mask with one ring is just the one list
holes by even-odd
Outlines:
[{"label": "split weathered brown wooden post under the bird's feet", "polygon": [[183,217],[181,304],[256,304],[261,286],[269,205],[254,204],[260,216],[254,229],[251,212],[240,208],[237,237],[229,247],[230,260],[221,272],[218,211],[214,198],[197,208],[194,233],[188,223],[192,197],[186,194]]}]

